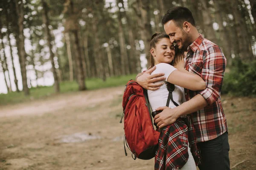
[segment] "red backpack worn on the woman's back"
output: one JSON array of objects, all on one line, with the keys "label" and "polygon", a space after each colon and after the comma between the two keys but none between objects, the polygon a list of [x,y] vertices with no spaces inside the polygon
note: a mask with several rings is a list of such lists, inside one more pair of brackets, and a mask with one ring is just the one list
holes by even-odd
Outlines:
[{"label": "red backpack worn on the woman's back", "polygon": [[[126,141],[134,160],[154,158],[160,132],[154,130],[146,90],[137,82],[130,80],[126,84],[122,107],[125,130],[124,148]],[[127,156],[126,149],[125,156]]]}]

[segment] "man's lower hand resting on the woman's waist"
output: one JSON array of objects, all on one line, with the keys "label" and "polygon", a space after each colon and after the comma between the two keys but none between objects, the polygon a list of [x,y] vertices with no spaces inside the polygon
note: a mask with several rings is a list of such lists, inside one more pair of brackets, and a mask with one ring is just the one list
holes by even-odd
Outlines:
[{"label": "man's lower hand resting on the woman's waist", "polygon": [[167,106],[164,106],[157,108],[156,111],[162,111],[154,117],[154,122],[157,124],[157,127],[159,128],[171,125],[179,117],[179,115],[175,113],[175,108],[172,109],[168,108]]}]

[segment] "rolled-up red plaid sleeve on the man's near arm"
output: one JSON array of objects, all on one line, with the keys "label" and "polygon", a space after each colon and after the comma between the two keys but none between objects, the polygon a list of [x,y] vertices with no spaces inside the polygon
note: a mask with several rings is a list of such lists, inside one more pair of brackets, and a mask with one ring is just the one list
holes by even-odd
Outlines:
[{"label": "rolled-up red plaid sleeve on the man's near arm", "polygon": [[221,95],[226,63],[226,58],[217,45],[204,51],[202,79],[206,83],[206,89],[199,94],[206,99],[208,105],[217,101]]}]

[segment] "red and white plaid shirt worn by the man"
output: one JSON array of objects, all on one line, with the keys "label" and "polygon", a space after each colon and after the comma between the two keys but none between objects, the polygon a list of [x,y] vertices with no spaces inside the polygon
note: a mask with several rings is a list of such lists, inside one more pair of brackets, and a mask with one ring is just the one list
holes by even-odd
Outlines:
[{"label": "red and white plaid shirt worn by the man", "polygon": [[227,131],[227,121],[221,105],[221,87],[226,58],[218,45],[200,36],[188,47],[185,68],[206,83],[203,91],[185,89],[186,100],[201,94],[208,105],[192,113],[197,142],[215,139]]}]

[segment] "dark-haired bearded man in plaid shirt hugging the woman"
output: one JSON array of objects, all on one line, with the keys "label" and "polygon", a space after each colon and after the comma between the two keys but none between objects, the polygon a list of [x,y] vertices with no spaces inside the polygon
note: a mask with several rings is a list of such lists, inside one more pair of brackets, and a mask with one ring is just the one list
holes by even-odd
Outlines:
[{"label": "dark-haired bearded man in plaid shirt hugging the woman", "polygon": [[[158,127],[172,124],[180,116],[190,114],[201,150],[200,170],[229,170],[229,143],[227,122],[221,105],[221,87],[226,58],[218,45],[204,39],[198,33],[191,11],[174,7],[163,16],[162,23],[172,43],[187,51],[185,68],[201,76],[206,89],[185,90],[186,101],[176,108],[160,107],[154,117]],[[157,90],[165,79],[163,74],[150,75],[155,67],[137,76],[137,82],[146,89]]]}]

